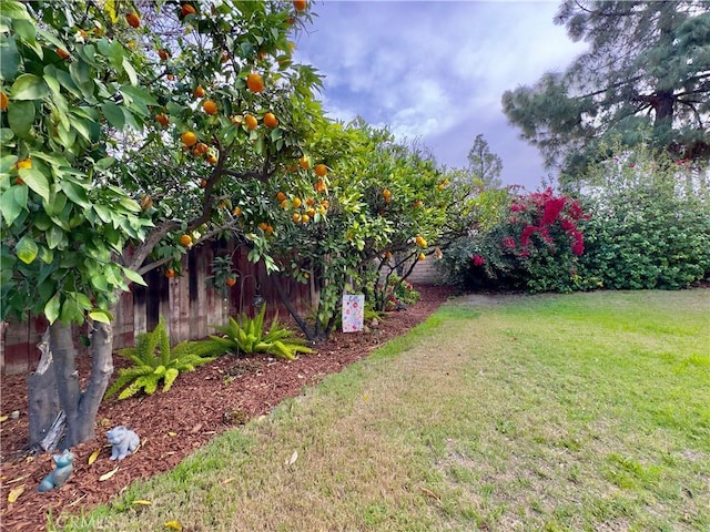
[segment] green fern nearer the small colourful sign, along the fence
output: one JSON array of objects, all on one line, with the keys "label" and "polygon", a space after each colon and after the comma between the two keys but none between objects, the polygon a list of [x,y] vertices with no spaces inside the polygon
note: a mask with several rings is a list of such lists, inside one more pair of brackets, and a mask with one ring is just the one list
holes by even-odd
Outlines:
[{"label": "green fern nearer the small colourful sign, along the fence", "polygon": [[264,316],[266,305],[263,305],[258,314],[250,318],[242,313],[236,319],[230,318],[225,326],[214,326],[224,336],[210,336],[205,344],[214,345],[223,349],[222,352],[236,351],[252,354],[266,352],[287,360],[295,360],[298,352],[314,352],[305,346],[306,340],[294,337],[293,331],[278,323],[278,316],[274,317],[271,327],[264,332]]}]

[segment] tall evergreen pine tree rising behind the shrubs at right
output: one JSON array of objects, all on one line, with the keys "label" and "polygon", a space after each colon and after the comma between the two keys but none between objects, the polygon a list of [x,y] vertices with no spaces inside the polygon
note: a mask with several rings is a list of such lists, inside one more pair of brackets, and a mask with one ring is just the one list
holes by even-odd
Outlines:
[{"label": "tall evergreen pine tree rising behind the shrubs at right", "polygon": [[589,50],[567,71],[503,95],[548,167],[584,170],[610,137],[707,164],[710,2],[565,0],[555,22]]}]

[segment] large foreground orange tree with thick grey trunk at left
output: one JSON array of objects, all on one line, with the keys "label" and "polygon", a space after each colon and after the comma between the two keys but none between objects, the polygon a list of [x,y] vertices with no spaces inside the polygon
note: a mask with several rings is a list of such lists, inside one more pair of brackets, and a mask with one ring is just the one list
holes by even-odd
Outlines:
[{"label": "large foreground orange tree with thick grey trunk at left", "polygon": [[[263,208],[301,153],[321,113],[317,76],[291,62],[302,3],[0,3],[1,317],[45,316],[52,354],[29,383],[31,444],[93,437],[116,296],[237,227],[236,196]],[[256,260],[266,241],[247,235]],[[71,325],[87,317],[82,390]]]}]

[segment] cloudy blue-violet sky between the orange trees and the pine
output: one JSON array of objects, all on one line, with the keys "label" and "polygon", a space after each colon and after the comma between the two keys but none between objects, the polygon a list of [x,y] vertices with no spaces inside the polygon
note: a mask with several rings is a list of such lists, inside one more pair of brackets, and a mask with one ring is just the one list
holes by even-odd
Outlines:
[{"label": "cloudy blue-violet sky between the orange trees and the pine", "polygon": [[398,141],[467,166],[476,135],[503,160],[504,184],[549,182],[537,149],[519,140],[500,98],[562,71],[586,49],[552,19],[554,0],[313,0],[295,60],[325,75],[326,113],[362,116]]}]

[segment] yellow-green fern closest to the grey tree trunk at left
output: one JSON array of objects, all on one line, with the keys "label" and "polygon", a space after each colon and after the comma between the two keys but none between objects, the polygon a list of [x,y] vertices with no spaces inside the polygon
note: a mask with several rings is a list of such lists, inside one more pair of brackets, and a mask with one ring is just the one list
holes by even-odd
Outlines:
[{"label": "yellow-green fern closest to the grey tree trunk at left", "polygon": [[132,360],[134,366],[119,370],[105,397],[120,390],[123,391],[119,399],[128,399],[141,390],[150,396],[161,380],[163,391],[168,391],[181,372],[192,371],[223,354],[224,350],[205,341],[182,341],[171,349],[165,320],[161,316],[152,331],[138,335],[134,347],[119,350],[119,355]]}]

